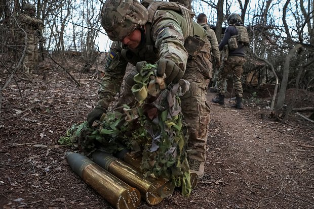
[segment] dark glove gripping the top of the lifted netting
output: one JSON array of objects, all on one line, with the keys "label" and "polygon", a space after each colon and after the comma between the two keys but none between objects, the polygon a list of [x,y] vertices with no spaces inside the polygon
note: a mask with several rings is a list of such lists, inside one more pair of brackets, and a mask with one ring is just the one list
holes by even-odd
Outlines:
[{"label": "dark glove gripping the top of the lifted netting", "polygon": [[183,77],[184,72],[172,60],[163,58],[157,61],[156,64],[157,76],[162,77],[165,73],[167,76],[166,84],[176,83]]}]

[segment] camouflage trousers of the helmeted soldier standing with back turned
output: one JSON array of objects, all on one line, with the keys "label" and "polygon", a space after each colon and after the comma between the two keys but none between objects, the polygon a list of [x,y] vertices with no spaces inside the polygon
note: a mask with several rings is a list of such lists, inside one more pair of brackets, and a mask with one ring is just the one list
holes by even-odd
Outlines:
[{"label": "camouflage trousers of the helmeted soldier standing with back turned", "polygon": [[217,89],[219,94],[225,94],[224,80],[232,72],[234,93],[237,97],[243,97],[241,77],[243,74],[244,57],[229,56],[226,61],[222,61],[217,75]]}]

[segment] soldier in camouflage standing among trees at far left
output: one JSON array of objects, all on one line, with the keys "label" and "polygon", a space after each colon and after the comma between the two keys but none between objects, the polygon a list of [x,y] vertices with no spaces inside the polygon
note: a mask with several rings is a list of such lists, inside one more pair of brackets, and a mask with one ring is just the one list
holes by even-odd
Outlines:
[{"label": "soldier in camouflage standing among trees at far left", "polygon": [[[40,19],[34,18],[35,7],[25,3],[22,7],[23,13],[18,17],[20,27],[25,31],[20,32],[19,41],[26,47],[23,60],[23,70],[25,73],[31,73],[38,63],[38,43],[42,39],[42,30],[44,23]],[[25,37],[27,38],[25,41]]]}]

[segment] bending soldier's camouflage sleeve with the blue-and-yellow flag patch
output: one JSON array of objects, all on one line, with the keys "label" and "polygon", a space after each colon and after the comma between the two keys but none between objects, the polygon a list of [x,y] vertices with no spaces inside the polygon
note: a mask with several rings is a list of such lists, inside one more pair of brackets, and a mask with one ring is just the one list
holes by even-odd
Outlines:
[{"label": "bending soldier's camouflage sleeve with the blue-and-yellow flag patch", "polygon": [[105,73],[98,89],[99,100],[97,106],[105,109],[109,107],[114,96],[119,92],[128,62],[121,56],[122,45],[114,41],[105,58]]}]

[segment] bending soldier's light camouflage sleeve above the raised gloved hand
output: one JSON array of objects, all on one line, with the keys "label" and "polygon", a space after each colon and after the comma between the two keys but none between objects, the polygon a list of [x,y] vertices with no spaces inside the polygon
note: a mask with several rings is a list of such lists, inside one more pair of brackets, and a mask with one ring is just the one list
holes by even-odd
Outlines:
[{"label": "bending soldier's light camouflage sleeve above the raised gloved hand", "polygon": [[184,48],[184,35],[179,23],[173,15],[167,11],[158,10],[155,13],[152,25],[152,39],[158,48],[160,59],[171,59],[185,72],[188,58]]}]

